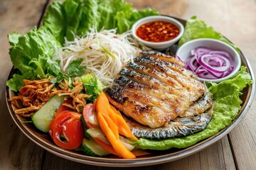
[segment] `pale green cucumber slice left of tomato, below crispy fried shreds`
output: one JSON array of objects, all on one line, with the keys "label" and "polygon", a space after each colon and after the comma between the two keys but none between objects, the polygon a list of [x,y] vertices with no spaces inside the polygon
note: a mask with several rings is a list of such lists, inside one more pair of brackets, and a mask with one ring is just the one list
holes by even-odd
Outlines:
[{"label": "pale green cucumber slice left of tomato, below crispy fried shreds", "polygon": [[50,130],[50,122],[54,119],[54,113],[64,102],[65,96],[55,95],[31,117],[33,125],[43,132]]}]

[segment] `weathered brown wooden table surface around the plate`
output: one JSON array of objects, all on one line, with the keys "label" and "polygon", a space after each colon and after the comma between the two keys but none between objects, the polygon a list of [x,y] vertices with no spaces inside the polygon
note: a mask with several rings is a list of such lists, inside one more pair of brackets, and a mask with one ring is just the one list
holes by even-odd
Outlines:
[{"label": "weathered brown wooden table surface around the plate", "polygon": [[[178,18],[198,16],[238,45],[256,72],[255,0],[129,2],[136,8],[150,6]],[[37,26],[48,4],[47,0],[0,0],[0,169],[118,169],[79,164],[50,154],[28,140],[9,115],[5,88],[12,64],[6,35],[14,30],[26,33]],[[256,169],[256,102],[253,100],[242,122],[211,147],[175,162],[132,169]]]}]

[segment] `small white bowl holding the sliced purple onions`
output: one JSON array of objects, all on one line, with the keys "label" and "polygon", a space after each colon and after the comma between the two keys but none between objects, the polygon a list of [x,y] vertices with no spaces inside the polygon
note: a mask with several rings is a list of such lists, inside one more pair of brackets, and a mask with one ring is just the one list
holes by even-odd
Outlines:
[{"label": "small white bowl holding the sliced purple onions", "polygon": [[228,52],[231,57],[234,59],[234,69],[233,71],[228,74],[226,77],[220,78],[220,79],[203,79],[198,77],[199,80],[201,81],[212,81],[214,83],[218,83],[220,81],[223,81],[225,79],[228,79],[230,77],[233,77],[240,69],[241,67],[241,59],[240,55],[238,52],[228,45],[225,42],[222,42],[220,40],[215,40],[211,38],[199,38],[195,40],[188,41],[181,45],[181,47],[178,48],[176,52],[176,57],[179,57],[181,60],[184,62],[186,59],[191,56],[191,50],[195,49],[196,47],[207,47],[210,50],[220,50],[220,51],[225,51]]}]

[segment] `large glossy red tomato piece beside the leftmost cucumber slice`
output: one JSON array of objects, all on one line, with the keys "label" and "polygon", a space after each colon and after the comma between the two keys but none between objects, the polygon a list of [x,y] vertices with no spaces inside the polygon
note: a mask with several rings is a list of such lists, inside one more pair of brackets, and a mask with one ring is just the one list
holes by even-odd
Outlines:
[{"label": "large glossy red tomato piece beside the leftmost cucumber slice", "polygon": [[69,111],[61,113],[50,123],[49,133],[56,145],[75,149],[82,144],[84,131],[80,116],[80,113]]}]

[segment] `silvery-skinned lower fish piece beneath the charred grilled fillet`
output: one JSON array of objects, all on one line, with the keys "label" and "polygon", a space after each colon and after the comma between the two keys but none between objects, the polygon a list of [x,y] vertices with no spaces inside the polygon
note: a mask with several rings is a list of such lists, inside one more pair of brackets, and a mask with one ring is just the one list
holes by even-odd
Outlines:
[{"label": "silvery-skinned lower fish piece beneath the charred grilled fillet", "polygon": [[[171,120],[168,125],[159,128],[149,128],[148,126],[141,125],[125,116],[124,120],[126,120],[127,125],[129,125],[129,128],[136,137],[151,140],[164,140],[171,137],[191,135],[195,132],[204,130],[210,122],[213,114],[213,101],[211,98],[213,98],[213,94],[210,94],[209,92],[189,108],[189,113],[195,111],[196,108],[201,108],[201,113],[196,111],[193,116],[188,116],[186,118],[177,117],[174,120]],[[207,102],[209,102],[209,104],[204,105]]]}]

